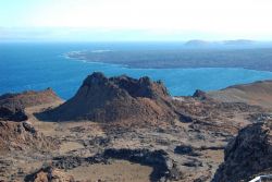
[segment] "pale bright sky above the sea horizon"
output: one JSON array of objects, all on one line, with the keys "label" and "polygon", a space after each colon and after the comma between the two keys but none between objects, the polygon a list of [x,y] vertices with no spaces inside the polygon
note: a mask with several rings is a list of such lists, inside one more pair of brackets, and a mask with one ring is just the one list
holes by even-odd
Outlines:
[{"label": "pale bright sky above the sea horizon", "polygon": [[271,0],[0,0],[1,40],[272,40]]}]

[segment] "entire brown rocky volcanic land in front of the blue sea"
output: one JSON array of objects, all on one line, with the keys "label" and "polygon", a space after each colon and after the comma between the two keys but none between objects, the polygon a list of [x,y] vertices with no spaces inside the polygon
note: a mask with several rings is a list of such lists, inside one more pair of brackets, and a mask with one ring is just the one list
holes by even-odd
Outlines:
[{"label": "entire brown rocky volcanic land in front of the blue sea", "polygon": [[171,97],[149,77],[102,73],[67,101],[51,89],[0,96],[0,181],[235,182],[271,173],[271,108],[215,96]]}]

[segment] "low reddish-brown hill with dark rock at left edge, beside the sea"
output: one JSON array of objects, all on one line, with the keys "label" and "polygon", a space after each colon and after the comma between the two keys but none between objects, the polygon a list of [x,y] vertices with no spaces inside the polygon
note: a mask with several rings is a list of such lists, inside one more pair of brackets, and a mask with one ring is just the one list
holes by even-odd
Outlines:
[{"label": "low reddish-brown hill with dark rock at left edge, beside the sea", "polygon": [[51,88],[41,92],[24,92],[0,96],[0,120],[27,120],[24,109],[61,100]]}]

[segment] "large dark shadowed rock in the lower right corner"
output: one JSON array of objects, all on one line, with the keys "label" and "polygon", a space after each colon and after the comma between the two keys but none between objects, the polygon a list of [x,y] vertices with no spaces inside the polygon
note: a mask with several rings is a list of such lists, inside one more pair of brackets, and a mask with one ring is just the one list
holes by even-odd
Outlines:
[{"label": "large dark shadowed rock in the lower right corner", "polygon": [[256,123],[239,131],[225,149],[224,162],[214,182],[248,181],[272,173],[272,121]]}]

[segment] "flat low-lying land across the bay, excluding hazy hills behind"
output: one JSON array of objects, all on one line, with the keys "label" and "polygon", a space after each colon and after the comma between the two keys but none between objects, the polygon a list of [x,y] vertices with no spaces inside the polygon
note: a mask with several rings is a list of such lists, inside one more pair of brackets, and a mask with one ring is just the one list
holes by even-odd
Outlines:
[{"label": "flat low-lying land across the bay, excluding hazy hills behind", "polygon": [[[261,54],[262,52],[258,51],[268,51],[264,52],[263,57],[265,57],[267,60],[256,60],[255,58],[247,58],[244,61],[244,57],[249,57],[246,53],[245,54],[237,54],[237,57],[240,58],[227,58],[228,53],[233,53],[236,51],[248,51],[248,49],[231,49],[231,50],[223,50],[223,49],[195,49],[193,52],[191,50],[188,50],[189,52],[186,52],[186,49],[181,50],[174,50],[174,56],[176,58],[172,58],[170,53],[172,53],[172,50],[166,53],[161,52],[158,50],[158,54],[160,57],[164,57],[163,59],[157,59],[156,50],[147,50],[143,51],[143,53],[137,50],[136,53],[131,50],[125,51],[114,51],[114,50],[78,50],[78,51],[70,51],[64,53],[66,58],[74,59],[74,60],[82,60],[84,62],[92,62],[92,63],[107,63],[107,64],[116,64],[121,65],[123,68],[128,69],[202,69],[202,68],[228,68],[228,69],[247,69],[247,70],[255,70],[255,71],[272,71],[272,62],[268,61],[270,59],[270,51],[272,49],[269,48],[256,48],[252,49],[254,51],[257,51],[257,53]],[[165,50],[164,50],[165,51]],[[178,52],[181,51],[181,52]],[[198,52],[199,51],[199,52]],[[212,52],[214,51],[214,52]],[[231,51],[231,52],[228,52]],[[108,54],[108,53],[111,54]],[[151,52],[151,53],[150,53]],[[183,58],[182,53],[188,53],[186,57]],[[198,56],[194,56],[194,52],[196,53],[203,53],[202,57],[199,58]],[[206,56],[205,53],[211,52],[211,58],[209,60],[209,56]],[[103,54],[104,53],[104,54]],[[146,57],[145,53],[147,53]],[[149,54],[148,54],[149,53]],[[164,54],[163,54],[164,53]],[[214,54],[213,54],[214,53]],[[221,60],[214,60],[213,57],[215,57],[218,53],[225,53],[223,57],[219,57]],[[144,56],[143,56],[144,54]],[[128,57],[129,56],[129,57]],[[188,60],[188,56],[190,56],[191,60]],[[144,57],[144,58],[141,58]],[[181,57],[181,58],[180,58]],[[207,58],[206,58],[207,57]],[[123,59],[123,60],[122,60]],[[202,59],[202,60],[201,60]],[[248,60],[249,59],[249,60]],[[250,60],[251,59],[251,60]],[[247,62],[249,61],[249,62]],[[143,63],[144,62],[144,63]],[[223,62],[223,63],[222,63]]]}]

